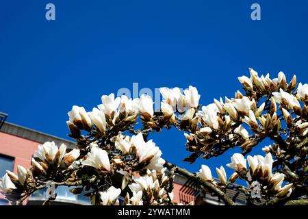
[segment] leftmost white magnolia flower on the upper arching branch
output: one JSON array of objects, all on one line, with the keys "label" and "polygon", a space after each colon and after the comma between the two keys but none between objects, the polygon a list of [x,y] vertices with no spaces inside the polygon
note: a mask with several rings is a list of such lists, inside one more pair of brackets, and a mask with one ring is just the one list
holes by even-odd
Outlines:
[{"label": "leftmost white magnolia flower on the upper arching branch", "polygon": [[90,131],[92,129],[91,119],[88,116],[84,107],[73,105],[72,110],[68,112],[69,121],[73,123],[78,129]]}]

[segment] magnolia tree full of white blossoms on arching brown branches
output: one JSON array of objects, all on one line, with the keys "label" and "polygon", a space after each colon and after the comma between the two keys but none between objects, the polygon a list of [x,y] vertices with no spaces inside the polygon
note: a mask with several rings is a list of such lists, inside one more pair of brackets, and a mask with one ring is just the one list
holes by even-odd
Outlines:
[{"label": "magnolia tree full of white blossoms on arching brown branches", "polygon": [[[160,88],[159,112],[154,112],[146,94],[138,99],[104,95],[92,112],[75,105],[67,125],[76,149],[54,142],[38,146],[31,168],[18,166],[17,175],[7,171],[1,191],[17,205],[49,185],[70,186],[70,192],[88,196],[92,205],[119,205],[120,194],[125,196],[123,205],[181,205],[172,194],[173,179],[180,174],[226,205],[235,205],[227,188],[243,192],[247,204],[307,203],[308,84],[297,84],[295,75],[287,83],[283,73],[274,79],[259,77],[253,69],[250,74],[238,78],[243,93],[202,107],[192,86],[183,93],[179,88]],[[233,174],[227,177],[220,166],[216,168],[220,180],[214,181],[208,166],[193,174],[166,162],[147,138],[171,127],[183,131],[187,139],[191,155],[186,162],[240,147],[242,153],[235,153],[227,164]],[[272,145],[263,145],[264,155],[248,155],[268,139]],[[119,178],[122,183],[116,185]],[[247,186],[235,184],[238,179]],[[49,196],[45,204],[54,199]]]}]

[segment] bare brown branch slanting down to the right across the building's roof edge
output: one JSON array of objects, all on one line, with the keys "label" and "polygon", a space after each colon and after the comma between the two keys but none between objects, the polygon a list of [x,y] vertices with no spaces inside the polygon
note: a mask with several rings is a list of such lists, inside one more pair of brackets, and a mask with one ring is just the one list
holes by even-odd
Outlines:
[{"label": "bare brown branch slanting down to the right across the building's roof edge", "polygon": [[215,185],[213,185],[210,182],[207,181],[203,181],[202,179],[200,179],[198,176],[192,174],[191,172],[189,172],[188,170],[185,170],[184,168],[179,168],[178,166],[175,166],[174,164],[171,164],[169,162],[166,162],[164,164],[164,166],[166,166],[166,168],[168,169],[172,169],[175,168],[175,172],[179,173],[179,175],[183,175],[185,177],[187,177],[188,179],[191,179],[193,181],[197,181],[198,183],[200,183],[200,185],[203,185],[204,188],[206,188],[207,190],[209,190],[210,192],[213,192],[214,194],[216,194],[218,197],[220,197],[222,199],[222,201],[224,201],[224,203],[226,205],[236,205],[235,202],[233,202],[231,200],[231,198],[229,196],[227,196],[227,194],[225,194],[224,192],[222,192],[220,189],[218,189]]}]

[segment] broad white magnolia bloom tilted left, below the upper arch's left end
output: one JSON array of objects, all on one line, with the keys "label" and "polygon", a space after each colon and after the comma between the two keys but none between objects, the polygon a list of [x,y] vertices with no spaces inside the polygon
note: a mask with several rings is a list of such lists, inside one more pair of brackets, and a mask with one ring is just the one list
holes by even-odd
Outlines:
[{"label": "broad white magnolia bloom tilted left, below the upper arch's left end", "polygon": [[110,160],[105,150],[98,147],[93,147],[88,153],[87,159],[81,164],[85,166],[92,166],[97,170],[110,171]]}]

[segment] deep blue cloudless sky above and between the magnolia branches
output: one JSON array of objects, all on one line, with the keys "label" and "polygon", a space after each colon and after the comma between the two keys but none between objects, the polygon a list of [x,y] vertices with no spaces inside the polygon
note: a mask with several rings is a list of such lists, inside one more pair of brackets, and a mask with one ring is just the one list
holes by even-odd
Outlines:
[{"label": "deep blue cloudless sky above and between the magnolia branches", "polygon": [[[55,21],[45,19],[47,3]],[[251,20],[253,3],[261,21]],[[307,83],[307,10],[308,1],[3,1],[0,111],[11,123],[68,138],[72,105],[91,110],[102,94],[133,82],[196,86],[203,105],[233,96],[248,67]],[[181,162],[189,155],[183,133],[153,140],[165,159],[191,171],[207,164],[214,172],[237,151],[189,165]]]}]

